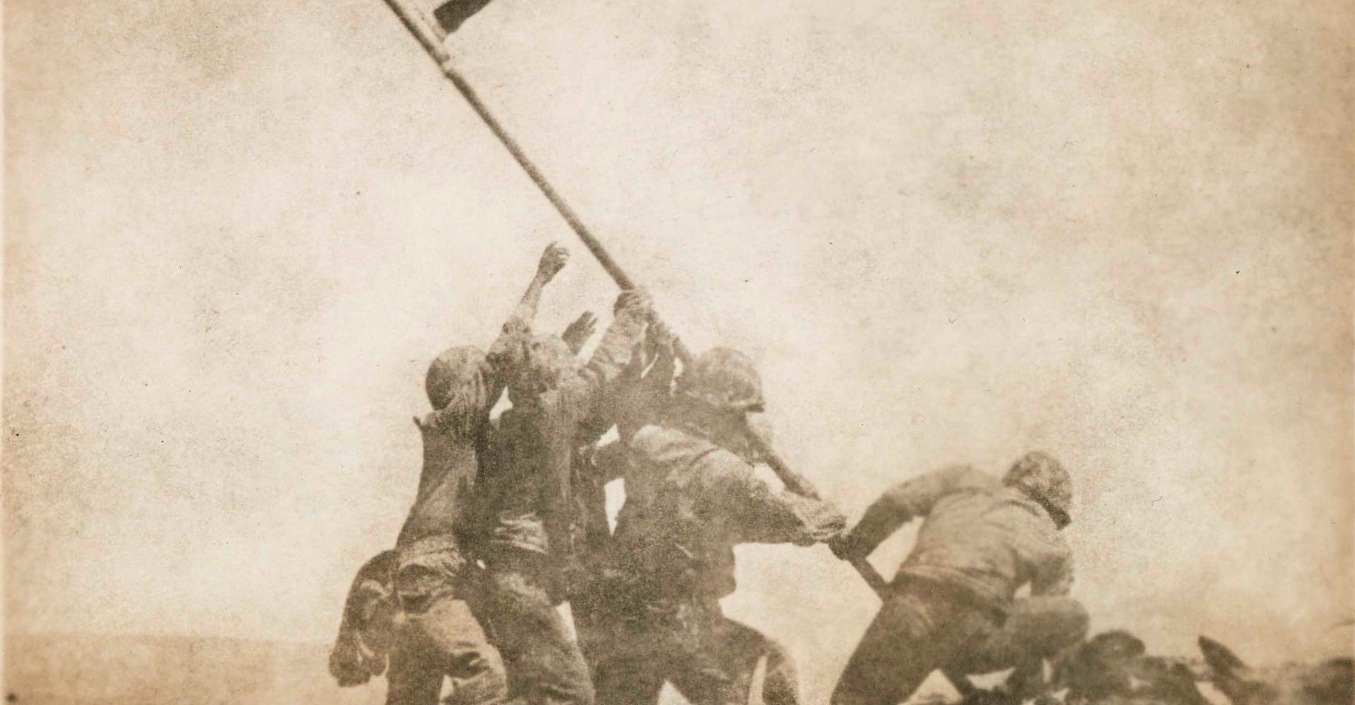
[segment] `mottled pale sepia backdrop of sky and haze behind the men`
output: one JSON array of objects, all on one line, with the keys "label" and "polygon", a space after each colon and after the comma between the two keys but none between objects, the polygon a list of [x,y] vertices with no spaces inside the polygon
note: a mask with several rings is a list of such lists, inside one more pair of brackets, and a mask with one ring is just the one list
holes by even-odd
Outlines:
[{"label": "mottled pale sepia backdrop of sky and haze behind the men", "polygon": [[[545,327],[614,287],[379,0],[4,9],[8,687],[335,697],[428,361],[549,241]],[[496,0],[451,46],[683,338],[759,361],[850,516],[1047,449],[1093,629],[1278,662],[1355,618],[1352,31],[1336,0]],[[728,612],[824,701],[875,597],[822,547],[738,571]]]}]

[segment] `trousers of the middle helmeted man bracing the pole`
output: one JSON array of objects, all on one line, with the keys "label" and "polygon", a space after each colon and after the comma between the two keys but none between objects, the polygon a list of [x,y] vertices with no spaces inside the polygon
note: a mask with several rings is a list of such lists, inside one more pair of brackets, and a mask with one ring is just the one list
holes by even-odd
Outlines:
[{"label": "trousers of the middle helmeted man bracing the pole", "polygon": [[[767,658],[763,702],[799,701],[795,667],[780,644],[726,618],[715,599],[656,604],[644,618],[617,620],[598,656],[599,705],[652,705],[669,682],[692,705],[744,705],[757,662]],[[630,605],[627,612],[638,612]]]}]

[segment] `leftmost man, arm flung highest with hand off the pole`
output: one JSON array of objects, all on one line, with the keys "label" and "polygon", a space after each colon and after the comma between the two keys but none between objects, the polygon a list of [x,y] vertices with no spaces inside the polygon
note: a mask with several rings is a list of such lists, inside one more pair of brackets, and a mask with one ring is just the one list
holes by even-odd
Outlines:
[{"label": "leftmost man, arm flung highest with hand off the pole", "polygon": [[[469,499],[493,445],[489,411],[503,395],[508,371],[522,361],[518,344],[530,330],[542,290],[568,258],[565,248],[546,248],[488,356],[474,346],[458,346],[430,365],[424,390],[434,410],[415,418],[423,436],[419,491],[394,552],[369,562],[354,582],[348,599],[352,609],[346,609],[331,659],[340,685],[364,682],[363,673],[379,674],[377,666],[385,654],[378,650],[389,643],[389,705],[438,702],[444,677],[454,687],[449,704],[499,704],[507,698],[503,660],[467,604],[477,579],[477,568],[466,555]],[[570,326],[577,327],[587,329],[587,317]],[[382,590],[393,593],[392,605],[382,606],[392,602],[383,599]],[[394,620],[396,605],[401,620]],[[366,617],[359,622],[351,614]],[[388,632],[389,639],[382,639]]]}]

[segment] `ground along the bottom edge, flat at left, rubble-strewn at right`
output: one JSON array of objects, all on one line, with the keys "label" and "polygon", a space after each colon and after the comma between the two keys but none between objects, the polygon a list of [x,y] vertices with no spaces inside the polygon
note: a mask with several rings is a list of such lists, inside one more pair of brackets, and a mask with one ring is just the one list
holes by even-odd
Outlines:
[{"label": "ground along the bottom edge, flat at left, rubble-strewn at right", "polygon": [[[7,635],[7,702],[251,704],[328,702],[378,705],[385,683],[339,689],[331,681],[328,644],[190,636]],[[916,705],[1350,705],[1351,659],[1253,667],[1228,647],[1201,639],[1198,658],[1148,654],[1126,632],[1098,635],[1049,670],[1037,697],[1001,691],[1000,678],[977,678],[981,690],[923,691]],[[665,704],[680,702],[669,694]],[[813,704],[809,704],[813,705]]]}]

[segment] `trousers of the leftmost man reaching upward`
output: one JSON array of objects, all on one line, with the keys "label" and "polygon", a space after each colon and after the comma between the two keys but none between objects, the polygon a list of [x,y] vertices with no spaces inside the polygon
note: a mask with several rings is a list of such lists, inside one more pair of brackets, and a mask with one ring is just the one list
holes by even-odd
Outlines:
[{"label": "trousers of the leftmost man reaching upward", "polygon": [[[408,572],[401,570],[397,586]],[[417,591],[401,593],[404,621],[390,650],[386,705],[436,705],[443,677],[453,682],[449,705],[505,702],[503,660],[470,606],[457,598],[451,585],[430,589],[427,579],[420,582]]]}]

